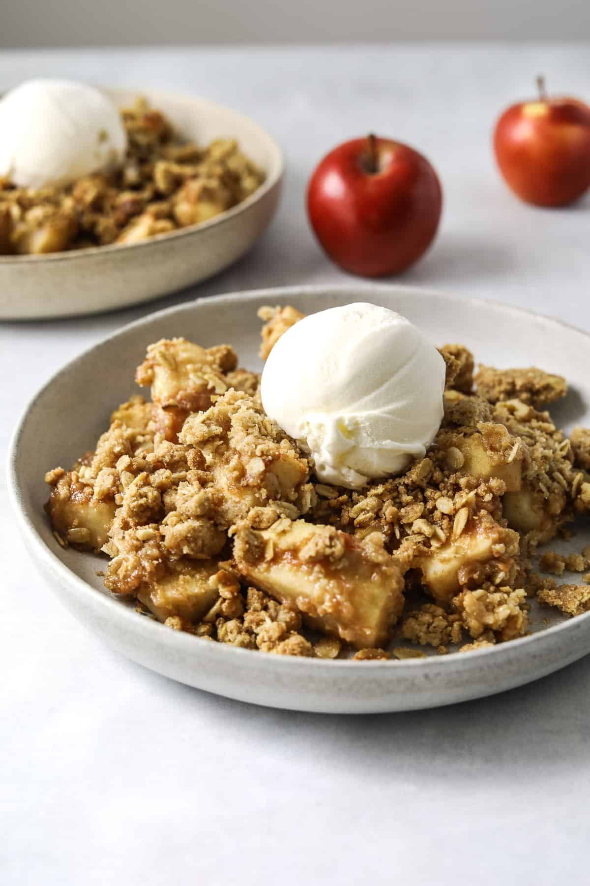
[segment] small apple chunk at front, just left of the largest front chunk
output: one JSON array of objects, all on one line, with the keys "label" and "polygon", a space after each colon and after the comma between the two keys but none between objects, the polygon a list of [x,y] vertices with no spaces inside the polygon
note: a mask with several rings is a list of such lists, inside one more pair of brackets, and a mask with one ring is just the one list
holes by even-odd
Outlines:
[{"label": "small apple chunk at front, just left of the largest front chunk", "polygon": [[218,571],[215,560],[191,563],[187,571],[173,572],[154,586],[140,587],[137,597],[160,621],[179,616],[194,623],[218,598],[218,586],[210,580]]}]

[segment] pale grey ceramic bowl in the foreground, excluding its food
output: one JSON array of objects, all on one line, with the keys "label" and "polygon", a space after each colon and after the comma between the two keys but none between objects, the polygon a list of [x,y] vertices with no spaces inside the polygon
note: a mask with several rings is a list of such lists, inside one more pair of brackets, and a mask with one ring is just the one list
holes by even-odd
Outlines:
[{"label": "pale grey ceramic bowl in the foreground, excluding its food", "polygon": [[[27,550],[68,609],[123,655],[220,695],[304,711],[362,713],[434,707],[535,680],[590,651],[590,613],[567,621],[543,610],[533,633],[494,649],[401,662],[351,662],[266,655],[212,643],[144,618],[105,591],[103,560],[57,545],[42,506],[43,474],[93,447],[111,409],[134,391],[134,367],[157,338],[182,334],[204,346],[231,342],[241,365],[256,368],[257,307],[293,304],[313,312],[351,301],[394,308],[438,344],[460,341],[498,366],[540,364],[568,378],[571,395],[557,421],[590,423],[590,337],[513,307],[454,299],[408,287],[301,287],[260,290],[159,311],[132,323],[69,363],[34,397],[11,443],[9,486]],[[576,536],[575,549],[590,540]],[[556,549],[552,543],[551,548]],[[543,618],[554,626],[543,629]]]}]

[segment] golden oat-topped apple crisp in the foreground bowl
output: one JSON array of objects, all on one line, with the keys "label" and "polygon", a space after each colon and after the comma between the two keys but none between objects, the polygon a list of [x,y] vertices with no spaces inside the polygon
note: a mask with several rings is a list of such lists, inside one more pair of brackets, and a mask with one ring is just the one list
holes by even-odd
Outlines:
[{"label": "golden oat-topped apple crisp in the foreground bowl", "polygon": [[[264,357],[303,318],[259,315]],[[533,596],[586,612],[587,584],[533,571],[537,548],[590,508],[590,431],[568,439],[540,411],[565,382],[540,369],[474,373],[462,345],[441,354],[432,446],[359,491],[318,482],[232,346],[149,345],[135,375],[149,399],[121,404],[93,451],[46,475],[56,538],[108,556],[109,591],[166,626],[279,655],[487,649],[526,632]],[[583,572],[586,555],[546,551],[540,569]]]}]

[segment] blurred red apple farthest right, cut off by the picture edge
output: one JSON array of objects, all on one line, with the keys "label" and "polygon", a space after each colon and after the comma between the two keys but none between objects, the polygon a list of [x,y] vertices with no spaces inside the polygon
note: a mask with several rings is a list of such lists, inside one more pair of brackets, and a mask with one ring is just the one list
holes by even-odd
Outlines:
[{"label": "blurred red apple farthest right, cut off by the picture edge", "polygon": [[590,108],[540,96],[512,105],[495,128],[494,151],[510,188],[527,203],[564,206],[590,186]]}]

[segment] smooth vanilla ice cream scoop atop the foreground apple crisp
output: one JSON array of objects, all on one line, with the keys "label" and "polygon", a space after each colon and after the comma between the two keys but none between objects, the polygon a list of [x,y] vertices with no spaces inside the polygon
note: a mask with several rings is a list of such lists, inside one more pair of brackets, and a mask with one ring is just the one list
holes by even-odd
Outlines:
[{"label": "smooth vanilla ice cream scoop atop the foreground apple crisp", "polygon": [[445,361],[413,323],[358,302],[295,323],[264,366],[264,410],[308,447],[318,479],[360,489],[425,455]]}]

